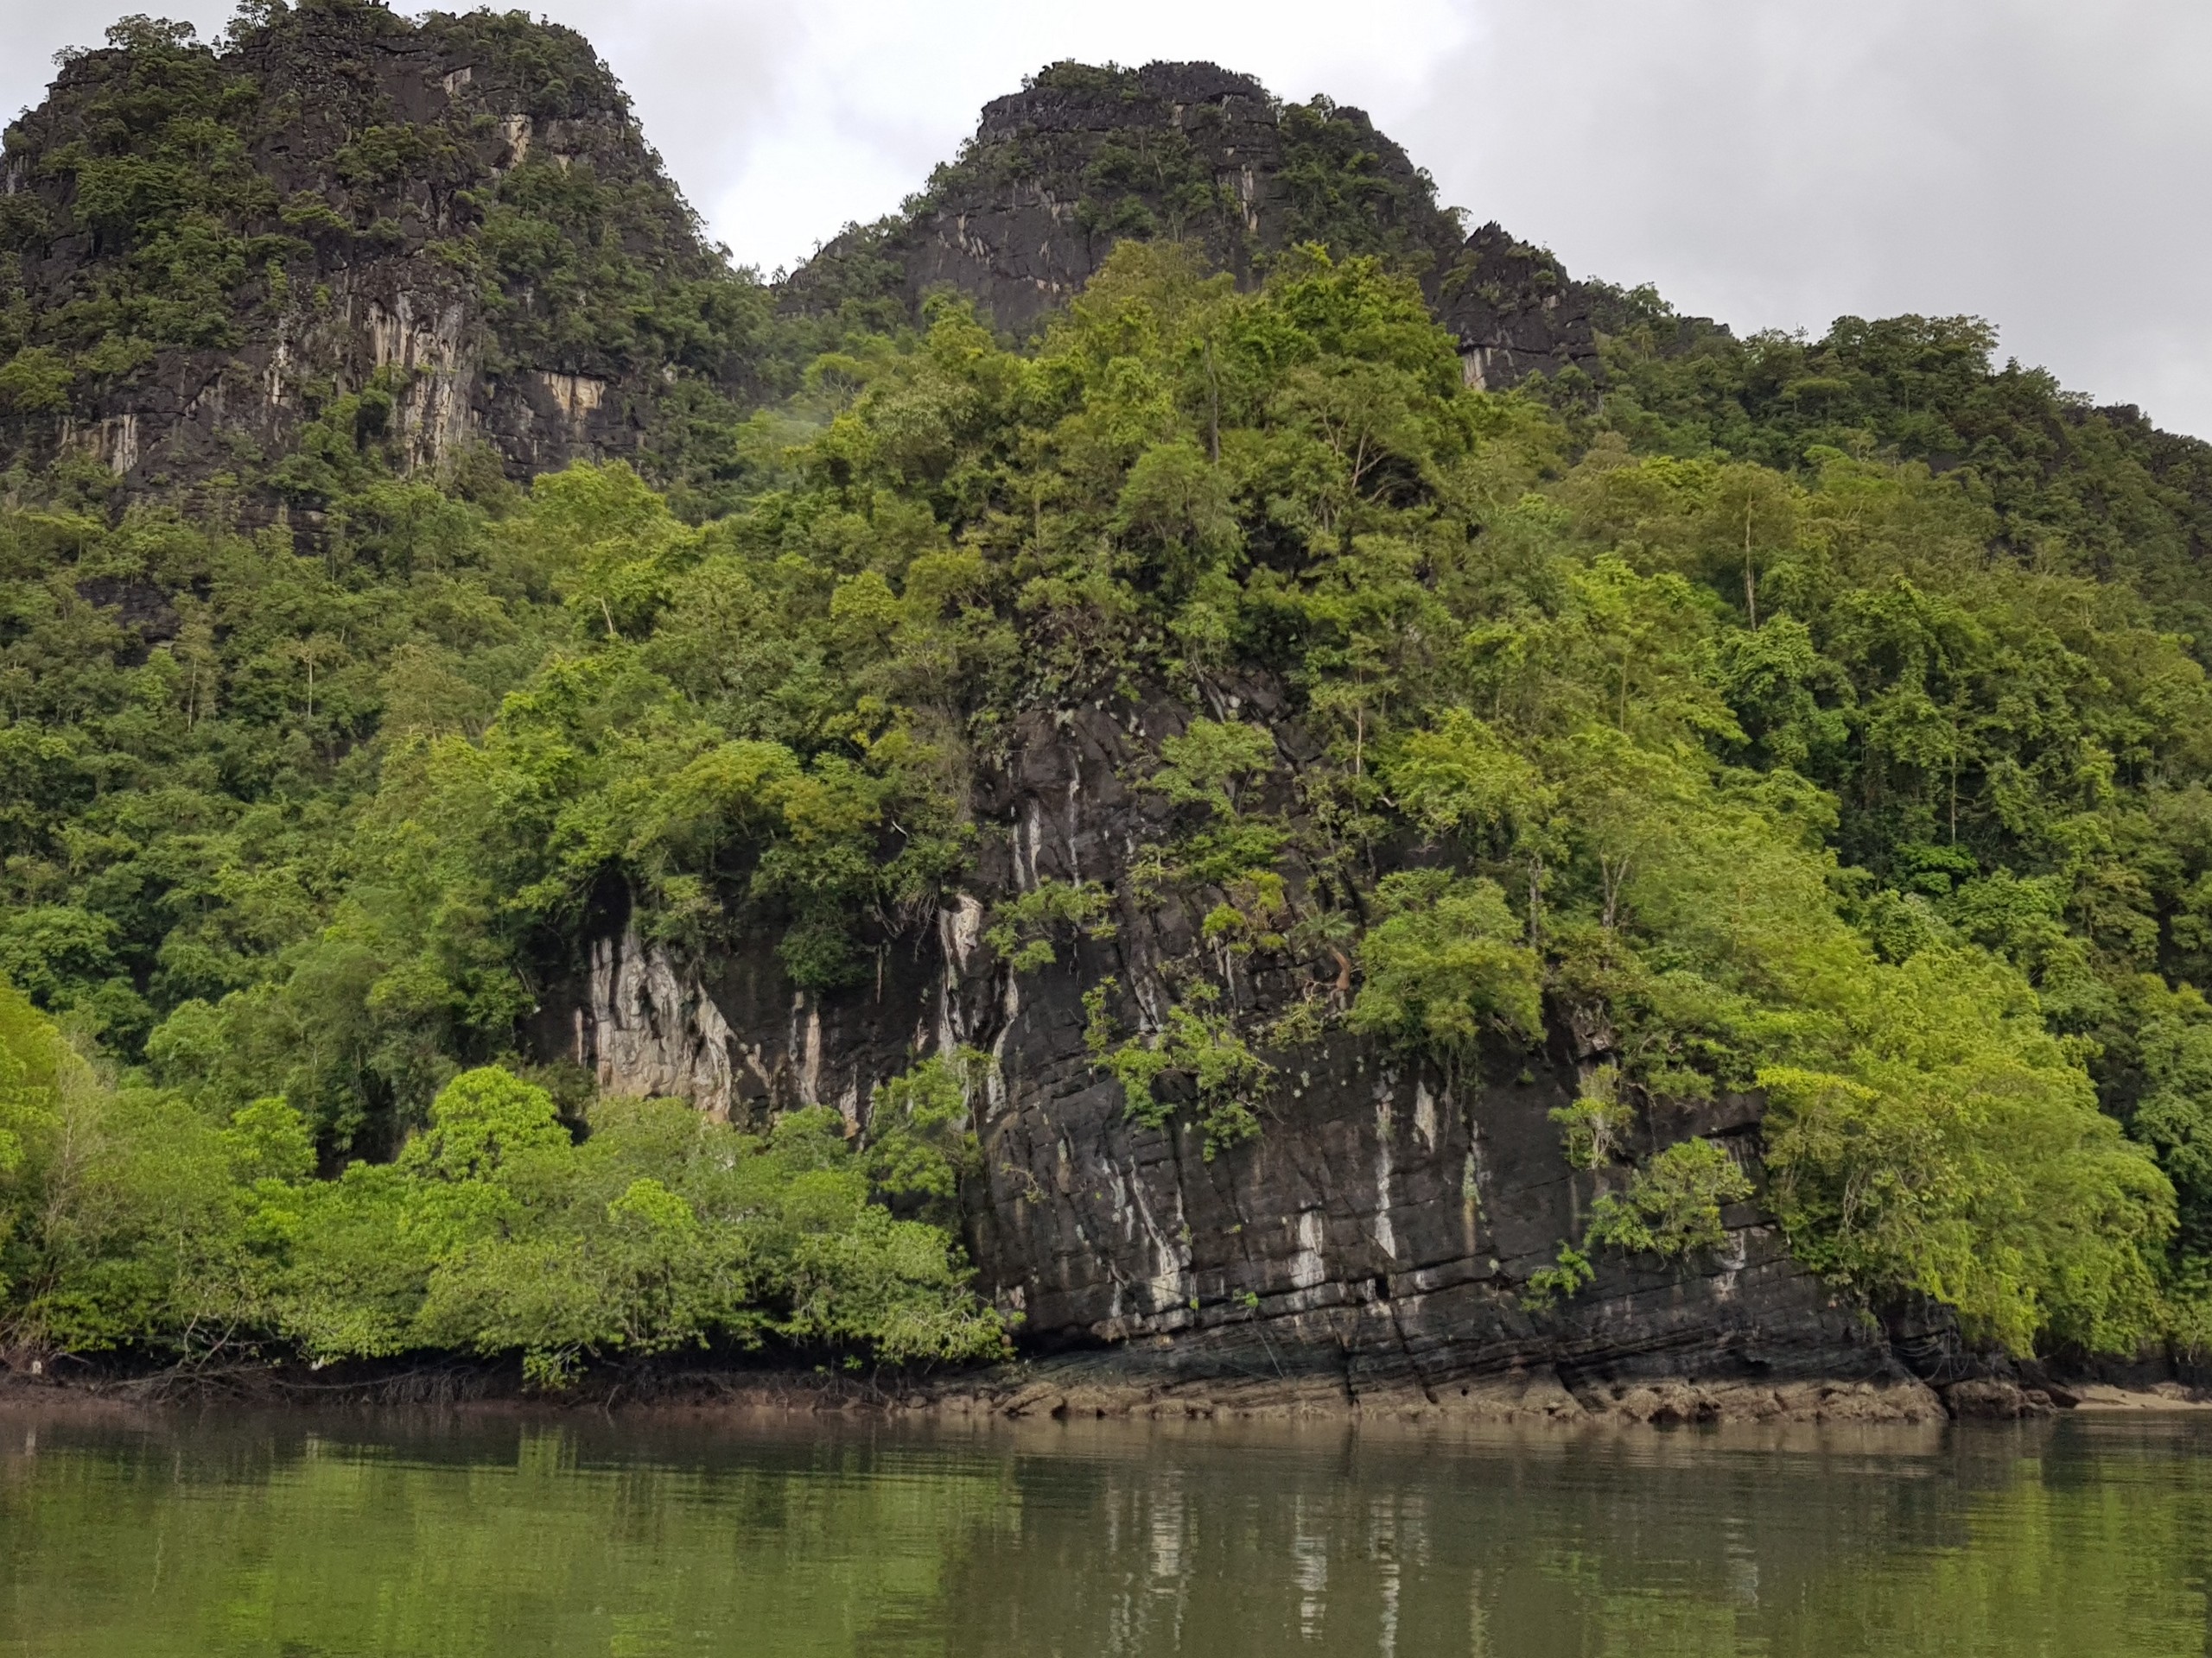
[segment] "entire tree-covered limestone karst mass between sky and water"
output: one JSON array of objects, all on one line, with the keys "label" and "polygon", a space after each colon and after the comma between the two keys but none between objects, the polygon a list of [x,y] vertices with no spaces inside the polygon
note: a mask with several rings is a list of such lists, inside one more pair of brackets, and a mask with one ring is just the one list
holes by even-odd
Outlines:
[{"label": "entire tree-covered limestone karst mass between sky and water", "polygon": [[1918,1410],[1997,1362],[1927,1298],[2212,1329],[2212,449],[1986,325],[1734,338],[1206,64],[768,285],[575,35],[358,0],[126,20],[4,179],[0,1012],[319,1216],[58,1229],[51,1340],[980,1291],[1170,1391]]}]

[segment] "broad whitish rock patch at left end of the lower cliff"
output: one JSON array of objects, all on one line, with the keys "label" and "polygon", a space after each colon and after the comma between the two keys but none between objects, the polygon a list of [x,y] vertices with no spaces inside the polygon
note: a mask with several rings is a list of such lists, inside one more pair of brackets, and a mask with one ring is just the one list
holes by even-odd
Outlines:
[{"label": "broad whitish rock patch at left end of the lower cliff", "polygon": [[681,1096],[730,1121],[737,1037],[695,975],[679,975],[664,944],[635,928],[591,946],[591,1019],[599,1088],[648,1099]]}]

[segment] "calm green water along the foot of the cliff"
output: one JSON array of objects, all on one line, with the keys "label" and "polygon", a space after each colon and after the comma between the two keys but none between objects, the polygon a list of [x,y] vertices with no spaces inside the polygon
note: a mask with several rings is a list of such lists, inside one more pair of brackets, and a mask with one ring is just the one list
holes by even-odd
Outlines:
[{"label": "calm green water along the foot of the cliff", "polygon": [[0,1654],[2208,1654],[2212,1424],[0,1413]]}]

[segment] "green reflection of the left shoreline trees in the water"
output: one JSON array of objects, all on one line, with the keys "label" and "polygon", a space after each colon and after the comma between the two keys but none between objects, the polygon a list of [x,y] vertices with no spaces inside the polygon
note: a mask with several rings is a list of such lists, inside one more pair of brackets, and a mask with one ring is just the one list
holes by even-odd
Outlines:
[{"label": "green reflection of the left shoreline trees in the water", "polygon": [[0,1419],[0,1649],[33,1654],[931,1651],[947,1567],[1020,1521],[1002,1463],[872,1477],[865,1439],[20,1441]]}]

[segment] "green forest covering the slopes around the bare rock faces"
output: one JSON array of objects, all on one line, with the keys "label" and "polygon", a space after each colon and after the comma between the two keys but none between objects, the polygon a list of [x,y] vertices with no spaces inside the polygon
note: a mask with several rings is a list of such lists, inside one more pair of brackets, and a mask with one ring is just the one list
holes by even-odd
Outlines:
[{"label": "green forest covering the slopes around the bare rock faces", "polygon": [[[272,7],[248,57],[361,11]],[[0,212],[13,418],[115,340],[139,367],[234,349],[232,307],[276,305],[307,256],[239,252],[170,338],[173,243],[232,237],[232,208],[161,197],[155,161],[55,159],[69,119],[221,150],[210,111],[250,95],[210,62],[124,24],[11,130],[11,168],[38,130],[40,177],[73,168],[73,223],[100,168],[166,203],[71,232],[115,241],[66,296],[33,252],[53,228]],[[124,84],[144,95],[102,102]],[[108,108],[122,128],[82,113]],[[411,144],[380,164],[400,197],[436,172]],[[1223,272],[1128,212],[1029,338],[951,292],[821,303],[896,225],[781,312],[637,248],[653,298],[615,325],[487,276],[507,230],[529,241],[531,177],[462,214],[458,267],[533,294],[487,298],[484,338],[568,332],[586,365],[734,296],[712,349],[739,356],[670,380],[721,460],[431,464],[392,420],[420,385],[396,363],[265,458],[312,533],[18,451],[15,1349],[476,1351],[544,1386],[701,1344],[1000,1353],[1006,1304],[956,1242],[989,1054],[918,1030],[856,1110],[710,1121],[533,1037],[611,913],[672,962],[768,940],[759,975],[823,1006],[880,1001],[885,959],[962,904],[1011,1004],[1082,975],[1093,1074],[1208,1163],[1332,1046],[1444,1085],[1571,1054],[1553,1116],[1593,1203],[1498,1287],[1531,1329],[1608,1262],[1710,1256],[1756,1203],[1825,1284],[1982,1344],[2203,1340],[2201,442],[2000,367],[1971,318],[1739,340],[1595,285],[1582,365],[1482,389],[1429,252],[1334,221]],[[1031,849],[1024,878],[978,802],[1024,718],[1082,710],[1133,734],[1157,833],[1068,880]],[[1761,1101],[1750,1150],[1655,1130],[1725,1099]]]}]

